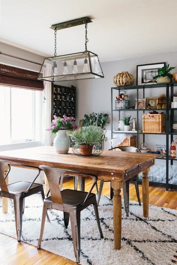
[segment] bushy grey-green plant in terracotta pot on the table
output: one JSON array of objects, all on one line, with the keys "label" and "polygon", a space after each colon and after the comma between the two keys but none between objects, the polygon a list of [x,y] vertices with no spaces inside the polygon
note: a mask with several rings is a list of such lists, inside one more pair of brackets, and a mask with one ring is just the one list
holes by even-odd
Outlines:
[{"label": "bushy grey-green plant in terracotta pot on the table", "polygon": [[79,148],[83,156],[90,156],[97,142],[107,140],[104,137],[104,130],[95,125],[79,127],[78,130],[70,133],[70,137],[72,142],[74,142],[74,148]]}]

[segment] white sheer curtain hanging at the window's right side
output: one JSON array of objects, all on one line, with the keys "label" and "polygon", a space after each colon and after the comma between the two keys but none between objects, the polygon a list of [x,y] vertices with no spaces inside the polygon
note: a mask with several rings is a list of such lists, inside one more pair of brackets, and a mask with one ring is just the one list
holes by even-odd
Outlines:
[{"label": "white sheer curtain hanging at the window's right side", "polygon": [[[47,73],[45,73],[47,74]],[[51,72],[50,74],[51,75]],[[44,81],[44,90],[42,92],[42,123],[41,123],[41,144],[42,146],[51,146],[51,131],[46,129],[51,126],[51,82]],[[44,181],[45,174],[41,172],[41,180]]]}]

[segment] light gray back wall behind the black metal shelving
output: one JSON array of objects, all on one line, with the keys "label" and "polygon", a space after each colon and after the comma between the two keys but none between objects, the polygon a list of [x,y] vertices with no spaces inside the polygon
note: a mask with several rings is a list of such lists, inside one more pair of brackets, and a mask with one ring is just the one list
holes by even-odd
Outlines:
[{"label": "light gray back wall behind the black metal shelving", "polygon": [[[84,114],[90,114],[92,112],[101,112],[101,113],[110,114],[111,110],[110,88],[115,87],[113,83],[113,77],[115,76],[115,74],[121,71],[128,71],[129,73],[133,74],[136,79],[137,65],[156,63],[156,62],[166,62],[169,63],[170,66],[177,66],[177,51],[156,54],[151,56],[131,58],[126,60],[103,62],[101,63],[101,66],[105,78],[78,80],[76,84],[77,122],[79,122],[80,119],[83,119]],[[172,72],[176,71],[177,69],[174,69]],[[136,85],[136,80],[134,84]],[[153,91],[152,89],[150,89],[145,96],[158,96],[163,91],[162,89],[159,89],[157,91]],[[115,92],[114,99],[116,94],[118,93]],[[135,91],[129,90],[128,99],[131,100],[130,102],[131,106],[134,105],[135,98],[136,98]],[[125,112],[122,114],[125,115]],[[115,122],[117,121],[116,117],[114,118],[114,121]],[[110,129],[110,125],[108,125],[106,129]]]}]

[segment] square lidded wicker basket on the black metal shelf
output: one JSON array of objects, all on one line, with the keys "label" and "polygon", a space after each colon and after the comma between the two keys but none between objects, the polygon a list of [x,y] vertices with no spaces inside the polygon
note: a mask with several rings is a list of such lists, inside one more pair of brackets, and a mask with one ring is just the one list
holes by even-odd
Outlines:
[{"label": "square lidded wicker basket on the black metal shelf", "polygon": [[165,114],[142,114],[143,133],[165,133]]}]

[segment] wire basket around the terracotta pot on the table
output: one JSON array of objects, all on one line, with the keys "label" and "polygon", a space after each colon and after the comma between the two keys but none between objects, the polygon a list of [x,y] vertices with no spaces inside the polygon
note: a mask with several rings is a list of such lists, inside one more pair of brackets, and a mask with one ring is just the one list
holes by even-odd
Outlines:
[{"label": "wire basket around the terracotta pot on the table", "polygon": [[104,140],[87,141],[87,144],[72,141],[71,147],[72,152],[77,156],[99,156],[104,150]]}]

